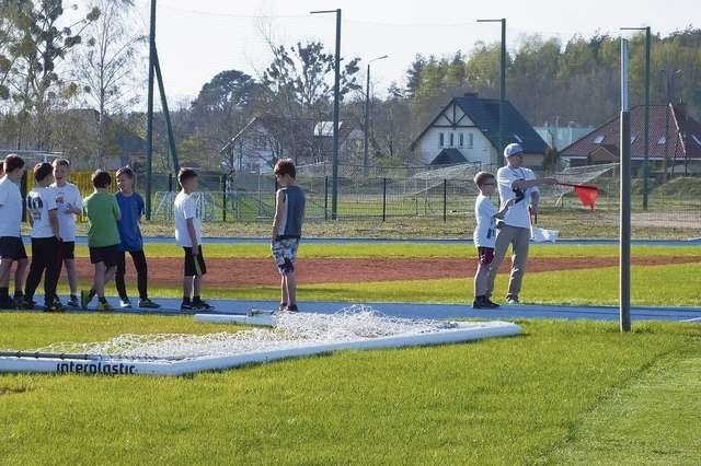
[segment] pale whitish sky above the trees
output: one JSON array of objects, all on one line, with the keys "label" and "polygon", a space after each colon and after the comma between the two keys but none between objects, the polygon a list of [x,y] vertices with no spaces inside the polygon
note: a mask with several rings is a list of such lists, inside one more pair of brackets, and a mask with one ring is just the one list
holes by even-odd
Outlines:
[{"label": "pale whitish sky above the trees", "polygon": [[[150,0],[136,5],[134,27],[146,33]],[[371,65],[371,89],[379,95],[393,81],[404,82],[416,54],[451,56],[469,53],[478,40],[499,40],[498,23],[479,19],[505,18],[510,49],[533,34],[565,43],[575,34],[618,36],[623,26],[650,25],[662,35],[701,26],[699,0],[158,0],[156,42],[169,100],[185,103],[223,70],[260,77],[272,58],[266,35],[277,44],[321,40],[333,51],[335,15],[309,12],[337,8],[341,55],[361,59],[363,83],[367,60],[389,56]]]}]

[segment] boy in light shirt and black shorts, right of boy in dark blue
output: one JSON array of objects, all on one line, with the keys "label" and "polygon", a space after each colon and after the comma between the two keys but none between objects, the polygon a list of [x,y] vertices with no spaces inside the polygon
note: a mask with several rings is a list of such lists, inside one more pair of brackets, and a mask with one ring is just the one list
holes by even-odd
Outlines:
[{"label": "boy in light shirt and black shorts, right of boy in dark blue", "polygon": [[192,168],[181,168],[177,174],[181,191],[175,196],[175,241],[185,252],[185,273],[183,278],[183,302],[181,311],[214,308],[200,298],[202,284],[207,267],[202,256],[202,210],[195,191],[199,186],[197,173]]}]

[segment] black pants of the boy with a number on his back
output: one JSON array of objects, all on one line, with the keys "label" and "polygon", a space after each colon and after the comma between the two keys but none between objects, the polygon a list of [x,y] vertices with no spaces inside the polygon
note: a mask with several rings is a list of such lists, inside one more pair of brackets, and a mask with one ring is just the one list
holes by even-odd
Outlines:
[{"label": "black pants of the boy with a number on his back", "polygon": [[61,249],[58,240],[51,237],[32,238],[32,264],[24,286],[24,296],[27,301],[34,298],[34,292],[42,281],[44,271],[44,302],[51,303],[56,299],[56,287],[61,273]]}]

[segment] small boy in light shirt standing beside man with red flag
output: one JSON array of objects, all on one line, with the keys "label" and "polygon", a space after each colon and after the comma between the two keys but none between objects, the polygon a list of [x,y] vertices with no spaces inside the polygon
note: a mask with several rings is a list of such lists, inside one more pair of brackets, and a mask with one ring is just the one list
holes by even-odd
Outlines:
[{"label": "small boy in light shirt standing beside man with red flag", "polygon": [[494,259],[494,245],[496,242],[496,219],[503,219],[513,201],[508,201],[498,212],[492,203],[492,196],[496,189],[496,178],[492,173],[480,172],[474,175],[474,184],[480,194],[474,201],[474,218],[478,222],[472,238],[478,248],[478,271],[474,273],[474,301],[472,308],[495,308],[499,305],[493,303],[486,295],[487,275],[490,265]]}]

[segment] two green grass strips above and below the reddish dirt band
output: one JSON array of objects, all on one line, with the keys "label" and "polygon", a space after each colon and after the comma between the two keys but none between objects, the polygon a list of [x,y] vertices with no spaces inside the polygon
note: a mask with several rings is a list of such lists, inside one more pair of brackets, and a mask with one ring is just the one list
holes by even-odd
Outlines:
[{"label": "two green grass strips above and below the reddish dirt band", "polygon": [[[149,257],[180,257],[181,249],[171,244],[147,244]],[[391,258],[391,257],[450,257],[473,260],[473,247],[463,244],[417,243],[336,243],[304,244],[300,246],[300,261],[306,257],[318,258]],[[78,246],[77,255],[87,257],[84,246]],[[210,244],[205,246],[206,257],[268,257],[266,244]],[[634,266],[632,268],[632,303],[634,305],[701,305],[701,263],[674,264],[675,257],[699,256],[696,247],[634,246],[633,257],[668,257],[673,261],[662,266]],[[533,258],[562,257],[618,257],[618,247],[610,245],[533,245]],[[237,273],[237,270],[232,270]],[[683,277],[683,279],[680,279]],[[505,294],[507,277],[497,278],[495,295]],[[653,284],[654,286],[651,286]],[[674,284],[673,284],[674,283]],[[376,281],[365,283],[300,283],[301,301],[353,302],[434,302],[466,303],[472,299],[471,277],[464,279]],[[206,288],[208,298],[275,299],[274,287]],[[152,287],[152,296],[177,298],[179,286]],[[526,303],[542,304],[616,304],[618,300],[618,268],[601,267],[584,270],[558,270],[526,273],[524,292]]]}]

